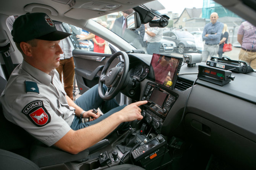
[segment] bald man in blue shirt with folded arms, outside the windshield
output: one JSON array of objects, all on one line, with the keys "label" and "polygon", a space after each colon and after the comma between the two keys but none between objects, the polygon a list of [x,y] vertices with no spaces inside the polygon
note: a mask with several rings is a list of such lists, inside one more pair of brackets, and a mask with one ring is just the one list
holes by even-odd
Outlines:
[{"label": "bald man in blue shirt with folded arms, outside the windshield", "polygon": [[212,13],[210,16],[211,22],[204,26],[202,34],[203,41],[205,41],[202,53],[203,62],[209,60],[210,57],[218,57],[220,36],[224,26],[221,22],[217,21],[218,18],[217,13]]}]

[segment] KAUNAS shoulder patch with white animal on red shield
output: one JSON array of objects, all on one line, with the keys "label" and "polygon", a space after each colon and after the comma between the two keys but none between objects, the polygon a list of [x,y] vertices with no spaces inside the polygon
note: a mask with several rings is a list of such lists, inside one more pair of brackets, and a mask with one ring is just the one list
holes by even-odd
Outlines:
[{"label": "KAUNAS shoulder patch with white animal on red shield", "polygon": [[51,121],[51,116],[41,100],[32,101],[27,104],[22,109],[22,113],[37,127],[47,125]]}]

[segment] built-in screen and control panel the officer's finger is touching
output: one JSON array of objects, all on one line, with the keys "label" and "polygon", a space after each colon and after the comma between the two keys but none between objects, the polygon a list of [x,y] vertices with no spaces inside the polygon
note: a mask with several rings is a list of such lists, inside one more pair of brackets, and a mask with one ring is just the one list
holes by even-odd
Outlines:
[{"label": "built-in screen and control panel the officer's finger is touching", "polygon": [[148,101],[147,104],[144,104],[141,112],[144,122],[151,125],[157,133],[160,133],[165,117],[177,97],[176,94],[170,93],[153,83],[147,83],[142,96],[142,100]]}]

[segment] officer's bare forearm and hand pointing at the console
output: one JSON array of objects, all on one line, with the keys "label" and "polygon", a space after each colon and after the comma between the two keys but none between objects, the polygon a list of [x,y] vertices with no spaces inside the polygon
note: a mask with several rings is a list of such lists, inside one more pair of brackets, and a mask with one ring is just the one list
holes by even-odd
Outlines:
[{"label": "officer's bare forearm and hand pointing at the console", "polygon": [[76,131],[70,130],[54,145],[71,154],[77,154],[104,139],[115,130],[120,123],[143,119],[139,106],[146,103],[147,101],[138,101],[129,104],[121,111],[115,112],[99,123]]}]

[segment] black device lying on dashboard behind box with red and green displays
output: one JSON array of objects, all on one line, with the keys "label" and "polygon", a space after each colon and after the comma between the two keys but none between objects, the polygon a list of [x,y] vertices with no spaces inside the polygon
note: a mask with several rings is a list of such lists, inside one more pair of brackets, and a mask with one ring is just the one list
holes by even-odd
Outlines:
[{"label": "black device lying on dashboard behind box with red and green displays", "polygon": [[206,65],[238,73],[253,72],[253,69],[246,62],[232,60],[226,57],[212,57],[206,62]]}]

